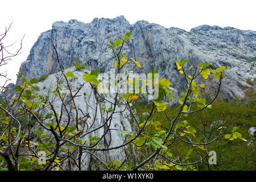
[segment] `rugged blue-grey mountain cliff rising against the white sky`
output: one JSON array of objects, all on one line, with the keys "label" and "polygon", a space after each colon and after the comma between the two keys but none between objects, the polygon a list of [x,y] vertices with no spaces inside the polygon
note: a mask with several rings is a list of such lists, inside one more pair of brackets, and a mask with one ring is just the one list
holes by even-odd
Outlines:
[{"label": "rugged blue-grey mountain cliff rising against the white sky", "polygon": [[[189,58],[185,68],[200,62],[209,62],[212,69],[225,65],[226,76],[220,92],[224,100],[244,97],[245,90],[251,86],[246,81],[256,77],[256,31],[203,25],[187,32],[145,20],[130,24],[124,16],[94,18],[91,23],[77,20],[53,23],[51,30],[39,36],[19,72],[28,79],[59,72],[52,45],[57,47],[63,68],[71,67],[74,61],[79,60],[89,69],[108,72],[114,68],[115,61],[108,48],[109,40],[121,39],[126,32],[131,32],[134,39],[127,43],[123,53],[140,61],[143,69],[134,65],[130,67],[138,73],[148,73],[158,68],[160,77],[170,80],[172,87],[178,90],[174,97],[185,89],[184,78],[177,71],[174,60]],[[212,79],[198,80],[207,85],[208,93],[215,92],[210,84]],[[18,78],[16,84],[20,82]]]}]

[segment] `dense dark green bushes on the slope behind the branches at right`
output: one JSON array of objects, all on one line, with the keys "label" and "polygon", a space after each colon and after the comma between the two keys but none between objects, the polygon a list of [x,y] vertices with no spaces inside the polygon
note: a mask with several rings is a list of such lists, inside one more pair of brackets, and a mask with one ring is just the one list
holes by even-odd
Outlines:
[{"label": "dense dark green bushes on the slope behind the branches at right", "polygon": [[[239,127],[239,131],[243,138],[248,142],[237,140],[232,142],[230,140],[217,140],[212,144],[209,144],[207,149],[209,151],[216,151],[217,153],[217,165],[209,165],[208,160],[204,160],[203,163],[196,165],[199,170],[255,170],[256,169],[256,136],[249,134],[250,127],[256,127],[256,93],[254,90],[248,89],[246,92],[246,100],[233,100],[222,101],[220,98],[212,105],[212,109],[203,110],[200,113],[196,113],[189,117],[189,123],[193,126],[200,126],[203,122],[205,126],[213,125],[217,123],[222,117],[225,118],[225,125],[228,126],[224,129],[224,134],[230,133],[233,127]],[[145,118],[144,113],[150,112],[150,105],[145,102],[138,102],[134,104],[138,112],[138,116],[141,121]],[[176,106],[168,107],[167,114],[175,115],[178,112]],[[160,118],[160,119],[159,119]],[[168,130],[170,122],[164,117],[164,113],[158,113],[155,115],[155,119],[160,121],[162,129]],[[220,127],[219,123],[217,127]],[[203,131],[201,127],[195,127],[198,133]],[[210,130],[206,133],[209,134]],[[214,138],[218,133],[213,132],[211,138]],[[199,139],[200,140],[200,139]],[[172,155],[185,155],[185,151],[188,151],[188,145],[183,142],[177,142],[176,146],[172,150]],[[143,151],[141,155],[144,155]],[[195,154],[191,154],[191,160],[196,159]]]}]

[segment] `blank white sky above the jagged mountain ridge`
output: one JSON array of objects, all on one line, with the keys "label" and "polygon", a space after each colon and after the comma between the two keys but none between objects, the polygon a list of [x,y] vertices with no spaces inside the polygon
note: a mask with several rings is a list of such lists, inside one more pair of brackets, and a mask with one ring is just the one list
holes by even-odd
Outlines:
[{"label": "blank white sky above the jagged mountain ridge", "polygon": [[[93,18],[115,18],[124,15],[132,24],[147,20],[166,28],[177,27],[189,31],[201,24],[231,26],[241,30],[256,30],[255,0],[1,0],[0,34],[13,21],[4,43],[23,39],[22,53],[0,72],[7,71],[11,82],[16,82],[20,64],[27,59],[31,47],[41,32],[51,29],[52,23],[77,19],[89,23]],[[15,48],[15,47],[13,47]],[[0,84],[5,80],[0,78]]]}]

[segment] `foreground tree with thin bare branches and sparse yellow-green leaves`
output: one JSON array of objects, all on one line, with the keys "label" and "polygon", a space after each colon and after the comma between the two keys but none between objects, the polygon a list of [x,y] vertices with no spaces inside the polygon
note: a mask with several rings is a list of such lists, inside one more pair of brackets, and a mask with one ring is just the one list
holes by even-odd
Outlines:
[{"label": "foreground tree with thin bare branches and sparse yellow-green leaves", "polygon": [[[238,127],[234,127],[231,134],[226,134],[221,138],[225,129],[224,122],[218,128],[220,118],[213,127],[206,129],[206,125],[202,122],[201,126],[193,126],[189,122],[189,115],[199,113],[202,110],[210,109],[211,104],[216,100],[222,79],[225,74],[226,67],[216,69],[208,68],[209,64],[200,63],[199,65],[191,65],[188,70],[185,70],[184,65],[188,64],[188,59],[176,61],[179,73],[184,76],[187,89],[177,99],[179,102],[178,111],[172,115],[167,113],[168,98],[174,99],[171,95],[175,89],[171,88],[171,82],[165,78],[158,77],[158,70],[148,73],[147,79],[130,78],[130,71],[126,68],[127,64],[134,64],[142,69],[139,61],[124,55],[123,45],[131,40],[131,32],[123,35],[123,39],[109,40],[109,48],[113,51],[115,58],[115,69],[118,73],[117,80],[114,82],[115,93],[109,94],[113,101],[104,97],[100,93],[101,79],[100,72],[96,70],[86,71],[81,64],[76,65],[75,71],[65,71],[59,61],[56,46],[53,49],[56,53],[56,60],[59,64],[61,75],[57,78],[55,90],[51,93],[51,101],[49,95],[39,95],[36,93],[36,85],[38,79],[32,78],[27,81],[22,73],[18,74],[23,82],[19,86],[15,86],[16,95],[12,100],[7,100],[2,97],[0,102],[1,117],[0,122],[0,155],[5,159],[2,168],[9,170],[65,170],[65,166],[70,164],[75,170],[82,170],[82,155],[84,153],[93,156],[98,163],[95,163],[94,168],[103,170],[139,170],[143,169],[196,169],[195,164],[207,159],[209,154],[207,146],[210,143],[216,142],[218,139],[233,140],[242,138],[237,132]],[[80,88],[73,90],[71,86],[71,78],[75,77],[77,72],[84,71],[82,76],[84,82]],[[126,72],[125,72],[125,71]],[[121,73],[126,73],[125,77],[120,76]],[[120,75],[119,75],[120,74]],[[212,100],[205,100],[201,94],[201,88],[204,84],[197,83],[197,77],[202,76],[207,79],[209,76],[215,78],[217,85],[217,93]],[[61,79],[63,79],[61,81]],[[121,93],[121,85],[123,81],[127,81],[130,90],[126,93]],[[63,82],[68,87],[68,93],[62,93],[61,85]],[[79,107],[75,101],[79,90],[85,84],[90,85],[95,98],[96,110],[93,115],[93,121],[96,120],[97,108],[100,109],[102,125],[94,126],[93,123],[87,123],[88,113],[79,114]],[[136,111],[132,109],[132,104],[138,101],[145,90],[140,88],[140,85],[146,85],[156,97],[150,97],[150,109],[143,118],[139,118]],[[85,93],[86,94],[86,93]],[[61,101],[60,113],[56,111],[56,106],[53,105],[53,100]],[[111,107],[106,108],[101,106],[101,102],[109,103]],[[118,110],[124,106],[125,110]],[[51,111],[46,115],[40,115],[40,111],[48,107]],[[75,117],[72,117],[73,110]],[[123,143],[109,147],[99,147],[106,135],[111,134],[113,130],[111,122],[116,113],[125,113],[128,111],[131,123],[134,123],[134,130],[120,131],[125,138]],[[156,115],[161,115],[168,119],[166,129],[162,127],[161,118],[156,118]],[[67,115],[67,121],[63,122],[63,115]],[[45,122],[48,119],[51,122]],[[79,127],[80,122],[85,122],[88,130],[84,133]],[[32,126],[40,126],[38,129],[32,129]],[[104,133],[95,137],[88,137],[90,133],[104,128]],[[208,132],[207,132],[208,131]],[[47,138],[47,139],[46,139]],[[111,142],[111,140],[110,140]],[[172,154],[175,144],[183,143],[189,146],[188,151],[180,151],[180,155]],[[127,158],[122,161],[111,160],[104,161],[101,155],[97,152],[112,151],[122,148],[127,154]],[[44,162],[40,152],[46,153]],[[76,158],[74,158],[74,152]],[[140,154],[140,155],[135,155]],[[190,161],[190,155],[198,155],[197,160]],[[132,156],[129,158],[128,156]],[[71,164],[72,163],[72,164]],[[69,168],[71,169],[71,168]]]}]

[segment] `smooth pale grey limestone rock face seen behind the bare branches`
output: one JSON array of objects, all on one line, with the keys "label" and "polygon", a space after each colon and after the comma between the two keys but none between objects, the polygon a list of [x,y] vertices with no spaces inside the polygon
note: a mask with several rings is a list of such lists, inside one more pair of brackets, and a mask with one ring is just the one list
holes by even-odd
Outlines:
[{"label": "smooth pale grey limestone rock face seen behind the bare branches", "polygon": [[[74,70],[75,70],[75,67],[66,69],[67,72],[74,71]],[[64,80],[64,77],[63,76],[60,77],[60,74],[61,74],[60,72],[52,74],[48,78],[46,78],[46,80],[40,81],[35,85],[40,88],[40,90],[37,91],[38,94],[41,94],[42,96],[43,95],[46,96],[47,94],[49,95],[48,101],[52,103],[56,113],[59,113],[61,115],[61,100],[59,97],[55,97],[52,93],[52,91],[56,89],[55,86],[52,86],[52,85],[56,84],[57,78],[59,77],[59,80],[61,79]],[[77,93],[77,90],[79,90],[81,85],[85,82],[82,78],[82,76],[84,75],[84,72],[76,71],[74,72],[74,75],[75,75],[75,78],[68,78],[69,85],[72,88],[73,96],[75,96],[75,93]],[[75,122],[76,112],[73,106],[73,102],[72,101],[68,102],[70,100],[70,93],[69,93],[67,83],[65,81],[63,81],[63,83],[61,84],[61,89],[62,90],[60,92],[66,94],[64,97],[64,102],[68,103],[66,105],[67,110],[71,111],[70,113],[71,123],[69,124],[69,126],[76,125],[76,122]],[[105,94],[105,95],[102,94],[102,97],[106,98],[106,100],[110,102],[114,102],[114,97],[111,96],[110,94]],[[106,122],[105,121],[106,113],[104,114],[101,108],[102,107],[109,108],[111,107],[111,104],[109,102],[100,101],[98,99],[98,104],[100,105],[97,105],[96,97],[94,96],[93,89],[91,88],[89,83],[85,83],[85,85],[82,86],[82,88],[76,94],[76,97],[74,98],[74,100],[79,113],[79,118],[83,118],[81,119],[83,122],[79,123],[79,131],[82,131],[80,138],[84,140],[88,140],[89,137],[102,137],[102,135],[104,135],[104,133],[106,132],[106,125],[104,125],[104,123]],[[117,112],[123,111],[123,110],[125,110],[125,105],[117,106],[115,109],[115,111]],[[42,106],[42,108],[39,111],[39,117],[43,117],[43,115],[46,115],[50,111],[52,111],[50,107]],[[84,117],[85,115],[86,117]],[[54,122],[54,121],[55,121],[55,118],[52,117],[51,119],[44,120],[44,124],[46,125],[46,123]],[[63,107],[63,114],[60,119],[60,125],[66,126],[67,122],[68,122],[68,114]],[[100,129],[95,130],[102,125],[104,125],[104,127],[101,127]],[[110,126],[111,130],[108,131],[108,133],[101,140],[101,142],[98,143],[97,145],[98,148],[106,148],[108,146],[111,148],[111,147],[117,147],[123,144],[125,138],[120,133],[120,131],[124,131],[124,130],[128,132],[132,131],[130,120],[129,120],[129,111],[125,110],[123,112],[114,113],[113,119],[111,122],[108,121],[108,125]],[[40,125],[36,124],[33,127],[33,129],[36,130],[39,127]],[[44,134],[49,134],[49,131],[44,129],[43,131],[44,131]],[[122,160],[125,160],[127,157],[123,148],[118,148],[110,151],[95,151],[95,152],[89,151],[89,152],[93,152],[104,162],[109,162],[113,160],[122,161]],[[76,151],[72,155],[74,159],[78,158],[78,154]],[[95,158],[93,159],[93,156],[90,155],[88,152],[84,152],[82,154],[81,166],[83,170],[90,170],[90,167],[92,167],[92,165],[96,162],[98,163],[98,161]],[[68,163],[65,163],[63,167],[65,167],[68,170],[76,170],[75,166],[70,166],[70,164]]]}]

